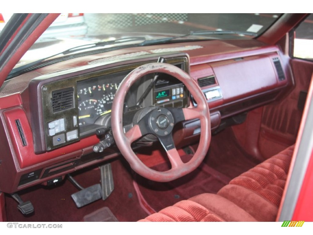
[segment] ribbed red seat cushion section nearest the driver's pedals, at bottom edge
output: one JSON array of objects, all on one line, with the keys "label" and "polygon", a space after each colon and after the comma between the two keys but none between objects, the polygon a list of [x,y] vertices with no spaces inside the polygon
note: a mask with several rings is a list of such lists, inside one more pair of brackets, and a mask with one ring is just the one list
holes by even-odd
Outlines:
[{"label": "ribbed red seat cushion section nearest the driver's pedals, at bottom edge", "polygon": [[207,208],[191,200],[179,201],[158,213],[154,213],[140,222],[222,222],[220,217]]}]

